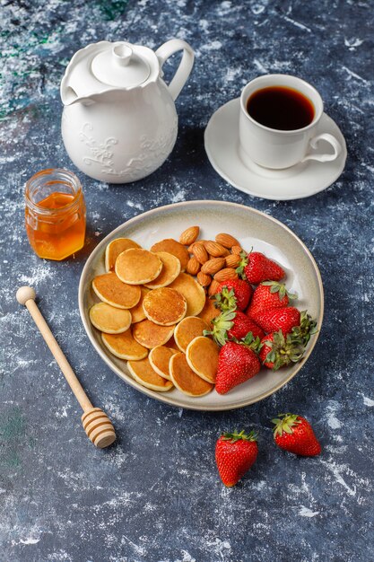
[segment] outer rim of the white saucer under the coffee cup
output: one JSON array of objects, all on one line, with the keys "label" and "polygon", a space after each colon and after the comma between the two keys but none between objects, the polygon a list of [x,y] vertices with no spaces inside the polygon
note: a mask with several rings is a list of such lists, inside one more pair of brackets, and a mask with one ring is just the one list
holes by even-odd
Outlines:
[{"label": "outer rim of the white saucer under the coffee cup", "polygon": [[[210,132],[210,127],[213,127],[212,126],[213,119],[217,116],[218,113],[225,110],[226,106],[234,105],[235,102],[240,104],[240,98],[233,98],[229,101],[226,101],[226,103],[223,103],[222,106],[220,106],[217,110],[215,110],[213,112],[213,114],[211,115],[211,117],[208,120],[208,122],[206,124],[206,127],[204,129],[204,150],[205,150],[205,153],[208,157],[209,163],[211,164],[213,170],[222,178],[222,180],[229,183],[230,186],[232,186],[235,189],[239,189],[239,191],[241,191],[242,193],[246,193],[247,195],[249,195],[250,197],[253,197],[253,198],[265,199],[265,200],[268,200],[268,201],[295,201],[295,200],[298,200],[298,199],[306,199],[306,198],[309,198],[309,197],[313,197],[314,195],[317,195],[318,193],[321,193],[322,191],[325,191],[325,189],[329,188],[331,185],[333,185],[333,183],[335,183],[336,180],[338,180],[338,178],[340,178],[340,176],[344,172],[345,162],[346,162],[347,156],[348,156],[347,145],[346,145],[346,142],[345,142],[344,135],[343,135],[342,131],[340,130],[340,128],[338,127],[338,125],[335,123],[335,120],[333,118],[331,118],[326,113],[326,111],[324,111],[323,114],[322,114],[323,117],[332,121],[332,123],[335,125],[335,127],[338,128],[338,130],[340,132],[340,135],[342,136],[342,139],[343,139],[342,148],[343,148],[343,154],[344,154],[344,161],[342,162],[342,170],[337,172],[337,174],[334,176],[333,180],[329,181],[327,183],[327,185],[325,185],[325,183],[324,183],[323,187],[321,187],[317,190],[313,190],[310,193],[308,193],[307,195],[296,195],[296,196],[291,196],[291,197],[283,196],[283,197],[276,197],[276,198],[270,197],[268,195],[260,194],[260,193],[258,193],[258,191],[255,192],[251,189],[247,189],[247,188],[244,188],[242,186],[239,186],[239,184],[235,180],[230,179],[230,176],[226,173],[226,171],[223,171],[222,168],[219,166],[219,164],[216,162],[216,158],[213,156],[212,149],[209,147],[209,143],[207,142],[207,137],[208,137],[209,132]],[[238,159],[240,160],[239,155],[238,155]],[[240,160],[240,162],[241,162],[241,160]]]}]

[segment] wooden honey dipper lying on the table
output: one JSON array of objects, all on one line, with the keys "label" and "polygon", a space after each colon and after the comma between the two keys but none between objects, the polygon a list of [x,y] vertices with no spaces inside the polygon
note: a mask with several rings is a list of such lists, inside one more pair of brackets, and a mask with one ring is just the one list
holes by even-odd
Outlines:
[{"label": "wooden honey dipper lying on the table", "polygon": [[116,440],[116,433],[112,426],[109,417],[100,408],[93,408],[91,401],[87,398],[86,393],[83,391],[81,383],[76,378],[76,375],[67,362],[61,347],[57,344],[57,340],[48,328],[47,322],[44,320],[43,315],[39,311],[38,305],[35,303],[35,291],[32,287],[23,286],[17,291],[16,298],[20,304],[23,304],[29,310],[35,324],[45,339],[52,355],[55,357],[57,364],[65,375],[70,388],[74,392],[76,400],[80,403],[83,409],[82,423],[83,428],[91,442],[103,449],[108,447]]}]

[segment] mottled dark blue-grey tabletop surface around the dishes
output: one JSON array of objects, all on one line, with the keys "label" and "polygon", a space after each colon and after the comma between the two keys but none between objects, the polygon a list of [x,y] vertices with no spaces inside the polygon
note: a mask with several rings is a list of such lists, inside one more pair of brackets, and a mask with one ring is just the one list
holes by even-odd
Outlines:
[{"label": "mottled dark blue-grey tabletop surface around the dishes", "polygon": [[[1,24],[1,562],[369,562],[373,548],[373,20],[374,3],[310,0],[0,1]],[[42,261],[23,228],[23,186],[50,166],[74,170],[60,136],[59,83],[75,50],[98,40],[196,49],[178,98],[178,142],[146,180],[126,187],[78,174],[88,206],[85,249]],[[170,64],[170,70],[173,64]],[[272,72],[314,83],[348,146],[346,169],[323,193],[272,202],[231,188],[204,153],[204,127],[249,79]],[[322,273],[326,317],[298,376],[239,411],[171,408],[120,381],[83,332],[77,285],[95,244],[144,210],[186,199],[254,206],[305,241]],[[39,306],[89,391],[117,428],[97,451],[28,312]],[[269,417],[309,417],[316,459],[275,450]],[[238,487],[217,478],[222,430],[254,427],[257,464]]]}]

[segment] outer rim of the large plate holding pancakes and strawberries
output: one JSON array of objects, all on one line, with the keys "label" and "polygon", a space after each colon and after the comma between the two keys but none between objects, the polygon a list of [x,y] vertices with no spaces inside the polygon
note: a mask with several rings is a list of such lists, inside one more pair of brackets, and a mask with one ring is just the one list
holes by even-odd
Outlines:
[{"label": "outer rim of the large plate holding pancakes and strawberries", "polygon": [[[230,206],[231,208],[239,208],[240,210],[245,210],[245,211],[249,210],[250,212],[253,212],[256,215],[259,215],[260,217],[265,218],[265,220],[269,220],[270,222],[273,222],[273,223],[277,224],[278,226],[283,228],[286,232],[291,234],[291,237],[294,238],[295,241],[297,241],[300,244],[302,250],[304,250],[309,257],[309,260],[310,260],[310,262],[313,266],[314,272],[315,272],[316,277],[317,277],[317,285],[318,285],[319,294],[320,294],[320,306],[319,306],[319,319],[317,321],[317,333],[310,340],[307,353],[305,354],[305,356],[303,356],[300,363],[296,364],[296,369],[294,370],[294,372],[290,373],[285,380],[283,380],[282,382],[279,382],[274,387],[274,389],[272,389],[271,391],[265,391],[262,394],[260,394],[259,396],[255,397],[254,399],[241,400],[240,402],[238,402],[236,404],[226,405],[226,406],[225,405],[222,405],[222,406],[213,405],[212,407],[206,407],[206,405],[199,405],[198,403],[196,403],[196,405],[193,405],[193,404],[186,405],[183,401],[178,400],[178,398],[177,399],[172,398],[171,400],[170,400],[170,398],[168,399],[167,392],[156,393],[155,391],[151,391],[150,389],[147,389],[146,387],[142,386],[138,382],[131,380],[130,377],[128,377],[128,379],[125,378],[124,373],[121,372],[121,370],[117,367],[116,364],[113,364],[110,361],[109,357],[100,348],[97,341],[91,336],[91,329],[90,329],[91,327],[88,325],[88,322],[86,321],[85,314],[84,314],[84,307],[83,307],[83,301],[84,301],[84,291],[83,291],[83,289],[84,289],[85,279],[88,276],[88,273],[89,273],[90,268],[91,268],[91,263],[94,259],[96,259],[97,254],[100,251],[102,251],[103,248],[105,248],[105,246],[109,242],[109,238],[112,238],[113,235],[115,235],[119,231],[123,230],[128,225],[135,224],[139,220],[142,220],[142,218],[144,216],[148,217],[148,216],[151,216],[151,215],[157,215],[158,213],[163,212],[165,210],[170,210],[170,209],[173,209],[173,208],[180,208],[180,207],[183,207],[183,206],[202,206],[202,205],[204,205],[204,206],[214,205],[214,206],[222,206],[222,207]],[[247,407],[251,404],[255,404],[256,402],[259,402],[261,400],[265,400],[265,398],[271,396],[272,394],[274,394],[275,392],[277,392],[281,388],[283,388],[283,386],[285,384],[290,382],[291,379],[293,379],[293,377],[297,373],[299,373],[300,369],[307,362],[307,360],[309,359],[309,356],[311,355],[314,347],[317,344],[317,339],[319,338],[319,334],[320,334],[320,330],[321,330],[321,326],[322,326],[322,321],[323,321],[323,317],[324,317],[325,295],[324,295],[322,277],[321,277],[321,274],[319,272],[319,268],[317,266],[316,260],[314,259],[312,253],[307,248],[307,246],[304,244],[304,242],[301,241],[299,236],[297,234],[293,233],[291,231],[291,228],[289,228],[286,224],[283,224],[281,221],[274,218],[274,216],[266,215],[262,211],[259,211],[255,208],[251,207],[251,206],[242,205],[242,204],[239,204],[239,203],[233,203],[233,202],[230,202],[230,201],[217,201],[217,200],[214,200],[214,199],[198,199],[198,200],[191,200],[191,201],[182,201],[182,202],[178,202],[178,203],[171,203],[169,205],[157,206],[157,207],[152,208],[148,211],[144,211],[144,213],[140,213],[139,215],[133,216],[132,218],[125,221],[125,223],[119,224],[114,230],[112,230],[110,233],[108,233],[105,236],[105,238],[103,238],[99,242],[99,244],[91,251],[90,256],[87,258],[87,260],[84,264],[84,267],[83,267],[83,270],[82,270],[82,273],[81,273],[81,277],[80,277],[80,280],[79,280],[79,285],[78,285],[78,305],[79,305],[79,313],[80,313],[81,321],[83,323],[83,328],[84,328],[84,330],[86,332],[86,335],[88,336],[88,338],[91,342],[92,347],[94,347],[95,351],[99,354],[99,356],[104,361],[104,363],[106,363],[109,366],[110,370],[113,371],[114,373],[116,373],[117,376],[120,379],[122,379],[124,382],[126,382],[127,384],[129,384],[130,386],[135,388],[137,391],[141,391],[143,394],[145,394],[149,398],[153,398],[155,400],[158,400],[160,402],[168,404],[169,406],[173,406],[173,407],[176,407],[176,408],[185,408],[185,409],[190,409],[190,410],[216,411],[217,412],[217,411],[227,411],[227,410],[245,408],[245,407]]]}]

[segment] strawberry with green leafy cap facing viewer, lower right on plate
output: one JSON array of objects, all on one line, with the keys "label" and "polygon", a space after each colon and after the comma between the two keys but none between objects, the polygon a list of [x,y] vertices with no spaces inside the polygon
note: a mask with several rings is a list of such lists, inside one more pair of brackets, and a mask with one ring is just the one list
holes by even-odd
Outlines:
[{"label": "strawberry with green leafy cap facing viewer, lower right on plate", "polygon": [[291,334],[284,337],[282,329],[267,334],[261,340],[259,358],[268,369],[277,371],[291,363],[298,363],[304,355],[304,345],[299,338],[292,338]]}]

